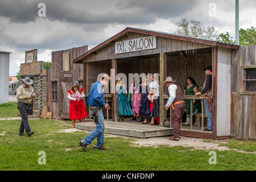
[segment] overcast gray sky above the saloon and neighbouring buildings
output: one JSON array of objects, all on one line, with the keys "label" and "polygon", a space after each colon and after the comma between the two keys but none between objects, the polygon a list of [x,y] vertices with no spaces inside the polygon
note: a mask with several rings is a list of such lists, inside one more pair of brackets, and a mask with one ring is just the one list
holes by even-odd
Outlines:
[{"label": "overcast gray sky above the saloon and neighbouring buildings", "polygon": [[[25,51],[38,49],[38,61],[51,52],[89,49],[126,27],[174,33],[181,18],[214,26],[235,37],[235,0],[0,0],[0,50],[10,55],[10,76],[25,63]],[[46,16],[39,3],[46,5]],[[216,11],[213,11],[216,10]],[[216,13],[214,13],[216,12]],[[240,0],[240,28],[256,27],[256,1]]]}]

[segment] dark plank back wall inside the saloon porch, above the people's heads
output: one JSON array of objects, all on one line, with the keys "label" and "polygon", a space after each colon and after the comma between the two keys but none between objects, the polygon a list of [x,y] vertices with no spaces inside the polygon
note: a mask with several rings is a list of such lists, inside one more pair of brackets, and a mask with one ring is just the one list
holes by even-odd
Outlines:
[{"label": "dark plank back wall inside the saloon porch, above the people's heads", "polygon": [[[111,60],[96,61],[88,64],[88,88],[97,80],[100,73],[110,75]],[[181,89],[187,84],[187,77],[191,76],[195,79],[199,87],[203,86],[205,80],[204,68],[207,65],[212,65],[212,53],[199,53],[188,55],[187,60],[184,56],[167,57],[167,76],[171,76]],[[117,60],[117,74],[125,73],[127,79],[129,73],[159,73],[159,58],[139,59],[134,61]],[[128,84],[128,80],[127,80]]]}]

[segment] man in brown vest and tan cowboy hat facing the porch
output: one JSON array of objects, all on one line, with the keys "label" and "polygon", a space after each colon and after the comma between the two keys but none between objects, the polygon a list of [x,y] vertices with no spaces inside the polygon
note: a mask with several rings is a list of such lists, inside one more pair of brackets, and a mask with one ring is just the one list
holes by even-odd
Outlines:
[{"label": "man in brown vest and tan cowboy hat facing the porch", "polygon": [[172,106],[172,127],[174,128],[174,137],[170,137],[170,140],[180,140],[180,120],[182,119],[185,110],[185,98],[179,85],[174,84],[172,77],[167,77],[163,84],[166,84],[168,92],[170,94],[166,106],[166,110]]}]

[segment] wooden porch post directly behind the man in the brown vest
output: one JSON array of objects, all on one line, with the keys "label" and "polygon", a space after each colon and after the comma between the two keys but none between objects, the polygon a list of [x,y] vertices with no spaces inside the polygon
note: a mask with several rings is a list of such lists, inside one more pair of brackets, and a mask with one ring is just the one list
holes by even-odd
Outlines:
[{"label": "wooden porch post directly behind the man in the brown vest", "polygon": [[[164,90],[166,90],[166,85],[163,85],[163,81],[166,79],[167,75],[167,55],[166,53],[160,53],[160,98],[159,98],[159,122],[160,126],[164,126],[164,118],[166,117],[166,111],[164,106],[166,103],[164,103],[163,100],[163,94]],[[171,125],[171,123],[170,123]]]}]

